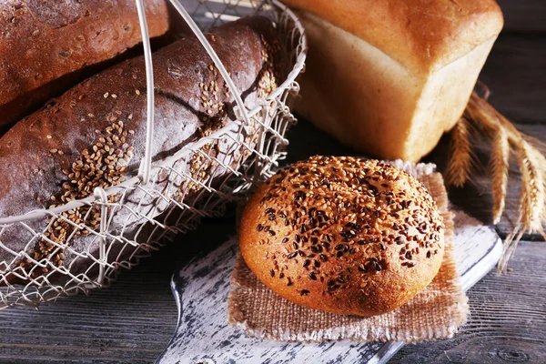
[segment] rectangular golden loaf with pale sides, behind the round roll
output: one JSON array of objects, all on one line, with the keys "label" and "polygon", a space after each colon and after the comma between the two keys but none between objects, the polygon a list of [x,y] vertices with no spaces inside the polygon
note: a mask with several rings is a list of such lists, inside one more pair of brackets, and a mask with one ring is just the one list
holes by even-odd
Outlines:
[{"label": "rectangular golden loaf with pale sides, behind the round roll", "polygon": [[501,32],[494,0],[284,0],[308,35],[296,110],[355,149],[417,161],[468,103]]}]

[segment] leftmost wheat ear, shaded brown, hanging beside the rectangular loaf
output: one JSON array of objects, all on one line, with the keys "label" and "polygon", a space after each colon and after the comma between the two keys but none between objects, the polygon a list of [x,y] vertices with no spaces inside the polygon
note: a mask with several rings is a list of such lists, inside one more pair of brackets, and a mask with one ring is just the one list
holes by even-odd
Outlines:
[{"label": "leftmost wheat ear, shaded brown, hanging beside the rectangular loaf", "polygon": [[470,142],[470,123],[465,117],[451,131],[450,161],[446,170],[448,184],[462,187],[470,178],[474,166],[474,151]]}]

